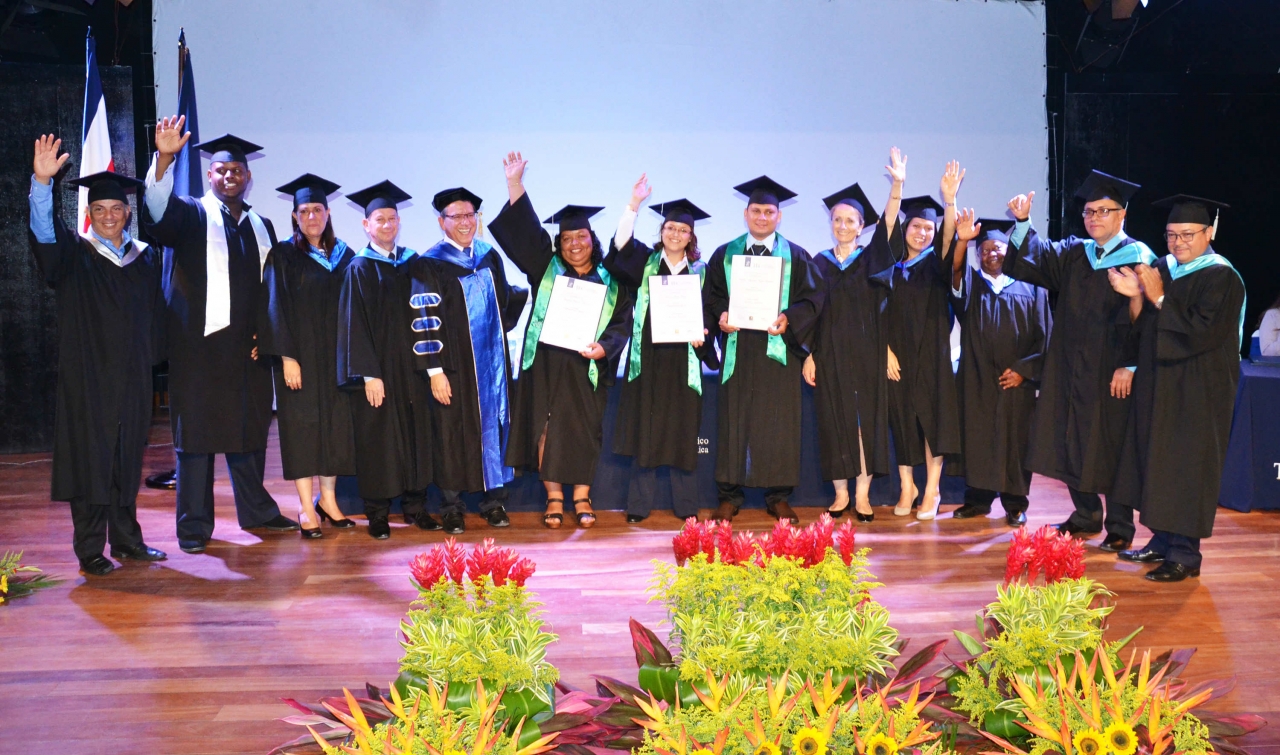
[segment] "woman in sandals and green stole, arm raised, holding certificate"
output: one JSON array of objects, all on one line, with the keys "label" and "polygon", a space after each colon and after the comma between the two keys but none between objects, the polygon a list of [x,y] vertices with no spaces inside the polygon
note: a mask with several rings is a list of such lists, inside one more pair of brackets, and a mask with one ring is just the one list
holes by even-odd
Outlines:
[{"label": "woman in sandals and green stole, arm raised, holding certificate", "polygon": [[[632,294],[602,265],[604,252],[590,223],[602,207],[568,205],[552,215],[547,223],[559,224],[553,239],[525,193],[526,165],[520,152],[503,160],[508,201],[489,224],[494,239],[536,292],[515,386],[507,463],[538,470],[547,488],[547,527],[558,528],[564,521],[566,486],[572,488],[577,525],[590,527],[595,523],[591,481],[600,458],[604,407],[631,334]],[[596,340],[581,352],[539,343],[559,275],[608,288]]]}]

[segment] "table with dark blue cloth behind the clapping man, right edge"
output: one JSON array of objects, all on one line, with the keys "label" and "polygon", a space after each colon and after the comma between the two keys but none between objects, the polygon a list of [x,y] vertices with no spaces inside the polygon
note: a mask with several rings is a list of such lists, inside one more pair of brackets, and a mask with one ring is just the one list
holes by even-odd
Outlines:
[{"label": "table with dark blue cloth behind the clapping man, right edge", "polygon": [[1219,505],[1280,508],[1280,363],[1240,362]]}]

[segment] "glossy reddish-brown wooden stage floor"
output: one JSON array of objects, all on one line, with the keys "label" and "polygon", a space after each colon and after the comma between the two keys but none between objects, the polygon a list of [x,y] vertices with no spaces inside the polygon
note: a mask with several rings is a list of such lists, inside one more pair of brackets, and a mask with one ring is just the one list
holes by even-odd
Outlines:
[{"label": "glossy reddish-brown wooden stage floor", "polygon": [[[168,440],[168,426],[157,424],[152,441],[161,445],[148,450],[148,473],[170,466]],[[220,466],[218,530],[205,554],[178,550],[173,494],[143,488],[143,534],[169,560],[129,562],[87,580],[77,572],[65,504],[47,500],[49,457],[0,463],[0,550],[24,550],[26,562],[67,577],[0,607],[0,752],[266,752],[302,733],[273,720],[289,713],[280,697],[314,700],[396,676],[398,622],[416,595],[406,563],[440,541],[439,532],[393,525],[388,541],[371,540],[364,526],[326,528],[316,541],[244,532]],[[268,489],[296,516],[274,430]],[[1037,479],[1030,498],[1032,526],[1070,511],[1057,482]],[[818,513],[800,509],[805,522]],[[590,531],[552,532],[536,514],[512,520],[511,528],[492,530],[468,516],[461,539],[495,536],[538,563],[529,586],[561,637],[549,655],[567,682],[589,686],[591,673],[634,681],[627,618],[658,628],[662,610],[646,603],[645,585],[652,559],[672,558],[680,522],[655,512],[631,526],[622,513],[607,512]],[[763,511],[746,511],[736,523],[772,526]],[[1009,528],[995,516],[916,522],[886,508],[858,536],[886,584],[877,598],[920,646],[973,627],[974,612],[995,598],[1002,577]],[[1146,536],[1139,532],[1139,540]],[[1110,636],[1146,626],[1139,646],[1199,648],[1189,676],[1236,674],[1222,708],[1272,722],[1242,743],[1257,755],[1280,755],[1280,517],[1220,509],[1204,552],[1204,575],[1179,585],[1148,582],[1143,568],[1096,548],[1088,576],[1119,595]]]}]

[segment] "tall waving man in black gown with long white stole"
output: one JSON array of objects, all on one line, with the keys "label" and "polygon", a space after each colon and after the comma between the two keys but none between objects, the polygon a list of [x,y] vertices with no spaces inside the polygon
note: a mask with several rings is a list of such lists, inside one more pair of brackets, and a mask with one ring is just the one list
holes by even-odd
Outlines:
[{"label": "tall waving man in black gown with long white stole", "polygon": [[275,246],[271,221],[244,203],[248,155],[261,147],[225,134],[198,145],[211,154],[209,193],[174,193],[174,155],[187,143],[183,118],[156,124],[147,173],[147,232],[165,251],[169,418],[178,454],[178,545],[202,553],[214,535],[214,454],[227,457],[241,528],[292,531],[298,523],[262,486],[271,425],[271,365],[259,360],[262,266]]}]

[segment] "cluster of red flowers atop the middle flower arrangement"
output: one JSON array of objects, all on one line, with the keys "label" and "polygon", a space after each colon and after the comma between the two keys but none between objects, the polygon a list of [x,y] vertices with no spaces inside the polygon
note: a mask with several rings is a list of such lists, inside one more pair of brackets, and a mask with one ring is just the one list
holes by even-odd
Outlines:
[{"label": "cluster of red flowers atop the middle flower arrangement", "polygon": [[805,567],[813,567],[826,558],[828,548],[833,548],[845,566],[849,566],[854,559],[854,534],[852,522],[836,527],[835,520],[826,513],[804,528],[780,521],[764,535],[735,534],[730,522],[699,522],[689,518],[685,520],[684,528],[671,539],[671,549],[680,566],[701,553],[707,555],[708,562],[718,560],[733,566],[746,563],[763,566],[769,558],[787,557]]}]

